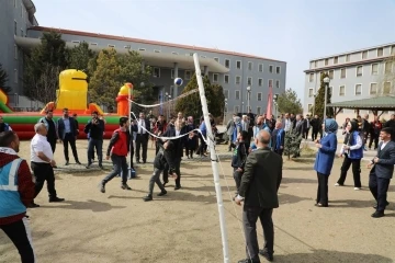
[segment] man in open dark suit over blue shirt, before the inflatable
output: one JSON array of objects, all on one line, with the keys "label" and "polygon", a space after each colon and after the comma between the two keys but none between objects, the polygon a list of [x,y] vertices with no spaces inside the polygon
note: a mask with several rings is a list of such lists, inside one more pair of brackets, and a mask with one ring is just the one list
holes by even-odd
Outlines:
[{"label": "man in open dark suit over blue shirt, before the inflatable", "polygon": [[69,164],[69,156],[68,156],[68,145],[70,144],[72,156],[76,160],[77,164],[81,164],[78,160],[78,153],[76,148],[76,139],[78,135],[78,127],[76,119],[72,117],[69,117],[68,115],[68,108],[63,110],[63,117],[58,119],[57,122],[57,133],[59,136],[59,140],[63,141],[64,145],[64,153],[66,159],[66,164]]}]

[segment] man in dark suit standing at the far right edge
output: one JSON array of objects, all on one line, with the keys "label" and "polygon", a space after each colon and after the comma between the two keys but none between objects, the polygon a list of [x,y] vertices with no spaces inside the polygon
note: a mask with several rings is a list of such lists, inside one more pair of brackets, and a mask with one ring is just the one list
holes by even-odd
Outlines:
[{"label": "man in dark suit standing at the far right edge", "polygon": [[379,145],[377,156],[368,164],[372,168],[369,174],[369,188],[376,201],[373,207],[376,209],[372,217],[380,218],[384,216],[388,185],[394,173],[395,165],[395,142],[392,140],[392,128],[383,128],[380,132],[380,139],[383,141]]}]

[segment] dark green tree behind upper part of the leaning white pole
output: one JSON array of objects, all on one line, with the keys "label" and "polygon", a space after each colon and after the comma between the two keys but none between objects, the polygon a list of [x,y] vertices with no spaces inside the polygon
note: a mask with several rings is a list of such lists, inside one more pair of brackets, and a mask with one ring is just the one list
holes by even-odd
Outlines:
[{"label": "dark green tree behind upper part of the leaning white pole", "polygon": [[[208,77],[203,78],[204,92],[207,100],[208,112],[214,117],[222,116],[225,107],[224,90],[221,85],[211,84]],[[181,94],[189,91],[196,90],[198,81],[196,76],[193,75],[188,85],[183,89]],[[176,111],[182,112],[185,116],[200,117],[203,115],[202,103],[199,92],[192,93],[184,98],[178,99],[176,103]]]}]

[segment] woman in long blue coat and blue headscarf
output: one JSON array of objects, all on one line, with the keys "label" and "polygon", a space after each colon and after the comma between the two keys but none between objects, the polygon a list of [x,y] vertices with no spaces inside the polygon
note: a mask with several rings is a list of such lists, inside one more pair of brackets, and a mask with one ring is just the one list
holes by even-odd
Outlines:
[{"label": "woman in long blue coat and blue headscarf", "polygon": [[328,178],[335,160],[338,125],[334,118],[327,118],[323,127],[325,136],[320,140],[317,139],[315,141],[318,148],[314,164],[314,170],[317,171],[318,179],[316,206],[328,207]]}]

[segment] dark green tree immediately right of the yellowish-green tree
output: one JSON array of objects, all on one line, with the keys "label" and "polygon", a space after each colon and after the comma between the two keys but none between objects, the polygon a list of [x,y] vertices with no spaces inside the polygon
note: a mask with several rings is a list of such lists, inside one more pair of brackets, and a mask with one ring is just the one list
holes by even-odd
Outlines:
[{"label": "dark green tree immediately right of the yellowish-green tree", "polygon": [[137,52],[128,52],[125,55],[120,55],[117,61],[121,67],[117,80],[121,83],[133,82],[134,100],[145,104],[154,102],[154,89],[149,83],[151,70],[149,66],[142,70],[142,56]]}]

